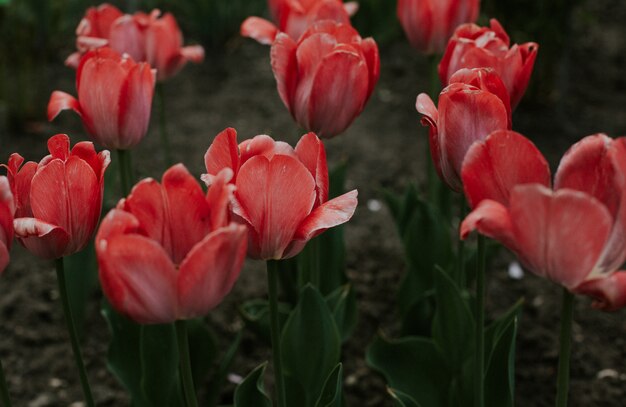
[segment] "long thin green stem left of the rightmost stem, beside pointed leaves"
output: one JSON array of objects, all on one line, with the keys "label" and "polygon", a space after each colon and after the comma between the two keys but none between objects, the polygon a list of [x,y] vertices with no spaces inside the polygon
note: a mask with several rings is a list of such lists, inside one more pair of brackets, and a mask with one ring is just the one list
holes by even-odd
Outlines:
[{"label": "long thin green stem left of the rightmost stem, beside pointed leaves", "polygon": [[478,235],[476,262],[476,353],[474,407],[485,405],[485,243],[486,238]]}]

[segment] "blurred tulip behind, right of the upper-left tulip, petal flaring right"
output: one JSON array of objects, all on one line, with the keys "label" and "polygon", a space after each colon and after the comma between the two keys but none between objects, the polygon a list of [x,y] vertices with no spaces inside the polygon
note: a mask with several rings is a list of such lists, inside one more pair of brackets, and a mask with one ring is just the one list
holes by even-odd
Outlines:
[{"label": "blurred tulip behind, right of the upper-left tulip, petal flaring right", "polygon": [[149,16],[136,14],[145,30],[146,61],[157,70],[157,80],[164,81],[178,73],[187,61],[204,60],[200,45],[183,47],[183,34],[171,13],[162,16],[155,10]]}]

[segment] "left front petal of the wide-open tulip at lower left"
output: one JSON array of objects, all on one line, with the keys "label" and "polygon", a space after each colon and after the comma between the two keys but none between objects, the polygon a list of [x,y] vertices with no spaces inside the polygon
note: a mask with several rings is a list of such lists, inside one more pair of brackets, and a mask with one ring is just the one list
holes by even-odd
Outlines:
[{"label": "left front petal of the wide-open tulip at lower left", "polygon": [[102,290],[119,312],[142,324],[165,324],[178,317],[176,268],[153,240],[116,236],[98,255]]}]

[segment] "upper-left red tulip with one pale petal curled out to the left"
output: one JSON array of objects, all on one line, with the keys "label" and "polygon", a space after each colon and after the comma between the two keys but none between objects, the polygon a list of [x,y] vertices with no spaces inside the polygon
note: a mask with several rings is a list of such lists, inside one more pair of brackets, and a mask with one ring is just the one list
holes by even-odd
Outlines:
[{"label": "upper-left red tulip with one pale petal curled out to the left", "polygon": [[148,130],[154,95],[155,71],[110,48],[87,53],[76,71],[78,100],[54,91],[48,102],[48,120],[72,109],[93,139],[114,149],[128,149]]}]

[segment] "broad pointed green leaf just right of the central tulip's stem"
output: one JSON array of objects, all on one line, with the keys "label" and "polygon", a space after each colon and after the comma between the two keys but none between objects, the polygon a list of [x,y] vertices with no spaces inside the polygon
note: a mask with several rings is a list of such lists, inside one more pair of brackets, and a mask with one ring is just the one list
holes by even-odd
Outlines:
[{"label": "broad pointed green leaf just right of the central tulip's stem", "polygon": [[307,407],[317,400],[324,380],[339,363],[341,338],[320,292],[308,284],[285,323],[281,337],[287,404]]}]

